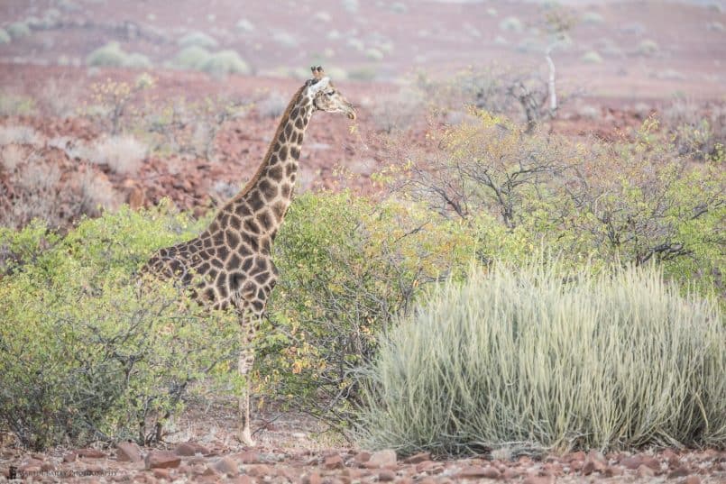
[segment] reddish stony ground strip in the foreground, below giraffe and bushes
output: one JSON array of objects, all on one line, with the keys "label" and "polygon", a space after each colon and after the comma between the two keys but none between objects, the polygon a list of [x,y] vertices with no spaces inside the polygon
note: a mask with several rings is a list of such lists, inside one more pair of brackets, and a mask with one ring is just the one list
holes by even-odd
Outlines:
[{"label": "reddish stony ground strip in the foreground, below giraffe and bushes", "polygon": [[397,456],[345,444],[308,416],[262,415],[254,428],[258,445],[234,438],[229,407],[188,410],[171,427],[168,442],[112,447],[56,448],[29,452],[0,445],[0,481],[27,482],[238,482],[350,484],[400,482],[726,482],[726,452],[660,449],[648,452],[571,452],[513,456],[506,450],[441,460],[423,452]]}]

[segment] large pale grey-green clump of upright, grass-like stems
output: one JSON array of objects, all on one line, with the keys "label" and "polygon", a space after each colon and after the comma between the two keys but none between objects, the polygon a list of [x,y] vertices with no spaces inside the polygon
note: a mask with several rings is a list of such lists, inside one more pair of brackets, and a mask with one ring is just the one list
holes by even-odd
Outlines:
[{"label": "large pale grey-green clump of upright, grass-like stems", "polygon": [[[554,264],[556,266],[556,264]],[[657,269],[472,269],[381,342],[360,438],[401,453],[726,444],[726,327]]]}]

